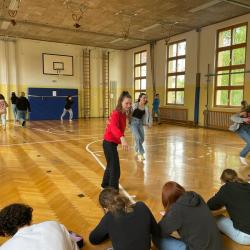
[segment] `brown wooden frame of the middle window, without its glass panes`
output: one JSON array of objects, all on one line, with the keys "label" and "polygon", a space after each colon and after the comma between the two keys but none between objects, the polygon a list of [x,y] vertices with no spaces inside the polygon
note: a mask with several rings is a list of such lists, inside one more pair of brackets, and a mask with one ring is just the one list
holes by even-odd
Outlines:
[{"label": "brown wooden frame of the middle window, without its glass panes", "polygon": [[[178,44],[185,42],[186,43],[186,49],[187,49],[187,40],[186,39],[181,39],[178,41],[171,42],[167,45],[167,69],[166,69],[166,105],[174,105],[174,106],[184,106],[185,105],[185,81],[186,81],[186,56],[187,56],[187,51],[185,51],[185,55],[178,56]],[[176,44],[177,45],[177,50],[176,50],[176,56],[169,56],[169,49],[170,46]],[[180,59],[185,59],[185,71],[177,72],[177,67],[178,67],[178,60]],[[169,73],[169,62],[171,61],[176,61],[176,71]],[[177,88],[177,76],[183,75],[184,76],[184,87],[183,88]],[[175,88],[169,88],[168,87],[168,78],[171,76],[175,76]],[[175,103],[168,103],[168,92],[175,92]],[[184,93],[184,101],[183,103],[176,103],[176,93],[177,92],[183,92]]]}]

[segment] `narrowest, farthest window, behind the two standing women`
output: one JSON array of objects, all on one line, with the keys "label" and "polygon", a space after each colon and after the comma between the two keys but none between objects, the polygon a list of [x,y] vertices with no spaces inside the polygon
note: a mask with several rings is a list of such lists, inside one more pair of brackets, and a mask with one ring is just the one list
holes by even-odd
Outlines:
[{"label": "narrowest, farthest window, behind the two standing women", "polygon": [[147,51],[137,52],[134,55],[134,98],[140,93],[146,93],[147,88]]}]

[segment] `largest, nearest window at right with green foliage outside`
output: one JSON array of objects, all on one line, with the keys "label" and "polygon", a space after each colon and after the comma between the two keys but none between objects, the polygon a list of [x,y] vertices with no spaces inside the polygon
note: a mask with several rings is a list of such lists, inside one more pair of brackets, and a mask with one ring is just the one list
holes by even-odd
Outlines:
[{"label": "largest, nearest window at right with green foliage outside", "polygon": [[247,24],[217,33],[215,106],[236,107],[244,96]]}]

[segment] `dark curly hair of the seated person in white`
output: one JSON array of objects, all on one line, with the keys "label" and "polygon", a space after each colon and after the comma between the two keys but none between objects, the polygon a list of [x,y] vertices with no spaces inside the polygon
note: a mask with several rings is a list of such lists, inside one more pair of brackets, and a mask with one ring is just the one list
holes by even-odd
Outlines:
[{"label": "dark curly hair of the seated person in white", "polygon": [[23,226],[30,225],[33,208],[25,204],[11,204],[0,211],[0,235],[13,236]]}]

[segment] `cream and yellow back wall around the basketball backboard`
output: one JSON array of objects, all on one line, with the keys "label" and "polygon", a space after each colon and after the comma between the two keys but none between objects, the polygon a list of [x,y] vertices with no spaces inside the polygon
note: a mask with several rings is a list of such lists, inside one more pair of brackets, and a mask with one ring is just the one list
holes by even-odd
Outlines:
[{"label": "cream and yellow back wall around the basketball backboard", "polygon": [[[75,88],[79,90],[79,116],[83,110],[83,49],[78,45],[16,39],[0,41],[0,92],[8,100],[15,91],[27,93],[27,88]],[[91,50],[91,117],[102,116],[102,53],[106,49]],[[122,89],[124,79],[124,51],[110,51],[110,80]],[[56,76],[43,74],[42,53],[73,56],[74,75]],[[9,112],[11,114],[11,112]],[[12,117],[12,116],[11,116]]]}]

